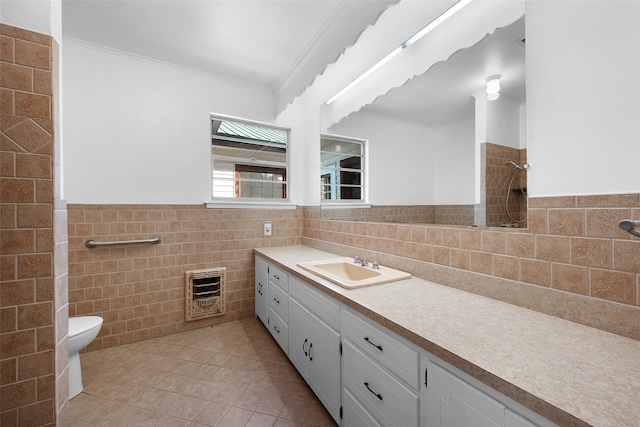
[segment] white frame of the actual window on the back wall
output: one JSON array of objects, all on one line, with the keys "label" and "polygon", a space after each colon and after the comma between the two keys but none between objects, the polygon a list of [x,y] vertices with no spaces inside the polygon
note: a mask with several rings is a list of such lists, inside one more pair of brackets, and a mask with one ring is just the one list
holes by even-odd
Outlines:
[{"label": "white frame of the actual window on the back wall", "polygon": [[[232,122],[238,122],[238,123],[245,123],[248,125],[252,125],[252,126],[258,126],[258,127],[264,127],[264,128],[268,128],[268,129],[275,129],[275,130],[280,130],[280,131],[284,131],[287,134],[287,143],[286,143],[286,147],[285,147],[285,165],[282,165],[282,163],[279,162],[271,162],[271,161],[260,161],[259,163],[256,164],[256,166],[264,166],[266,168],[271,168],[271,169],[284,169],[285,170],[285,181],[284,181],[284,186],[286,187],[284,190],[285,193],[285,197],[283,198],[265,198],[265,197],[220,197],[220,196],[214,196],[214,172],[215,172],[215,168],[214,168],[214,164],[215,164],[215,159],[216,156],[213,154],[213,139],[217,137],[217,135],[213,134],[212,131],[212,123],[213,120],[226,120],[226,121],[232,121]],[[208,208],[247,208],[247,207],[251,207],[251,208],[265,208],[265,209],[295,209],[297,208],[296,205],[293,205],[291,203],[291,201],[289,200],[289,195],[291,194],[291,174],[290,174],[290,147],[289,147],[289,142],[290,142],[290,134],[291,134],[291,129],[288,127],[284,127],[284,126],[278,126],[278,125],[274,125],[273,123],[266,123],[266,122],[261,122],[261,121],[257,121],[257,120],[251,120],[251,119],[245,119],[242,117],[235,117],[235,116],[230,116],[230,115],[226,115],[226,114],[218,114],[218,113],[210,113],[209,114],[209,156],[210,156],[210,174],[209,174],[209,179],[210,179],[210,197],[211,199],[209,201],[205,201],[205,205]],[[229,138],[230,141],[233,141],[234,138],[230,137]],[[240,141],[240,142],[244,142],[244,141]],[[256,143],[260,143],[260,141],[256,141]],[[268,143],[264,144],[265,146],[268,146]],[[226,158],[227,160],[237,160],[235,163],[233,163],[233,168],[234,168],[234,173],[236,170],[236,167],[238,165],[248,165],[246,160],[242,160],[240,158],[233,158],[233,157],[227,157],[227,156],[218,156],[218,158]],[[252,166],[252,165],[251,165]],[[234,181],[234,187],[235,187],[236,182]]]}]

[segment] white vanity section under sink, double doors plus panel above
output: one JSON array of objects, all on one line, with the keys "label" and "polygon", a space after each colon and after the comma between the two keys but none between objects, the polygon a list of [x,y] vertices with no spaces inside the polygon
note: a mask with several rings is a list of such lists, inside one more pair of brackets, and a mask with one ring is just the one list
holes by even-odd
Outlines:
[{"label": "white vanity section under sink, double doors plus panel above", "polygon": [[[333,419],[340,423],[340,306],[290,278],[289,359]],[[334,317],[334,319],[336,319]]]}]

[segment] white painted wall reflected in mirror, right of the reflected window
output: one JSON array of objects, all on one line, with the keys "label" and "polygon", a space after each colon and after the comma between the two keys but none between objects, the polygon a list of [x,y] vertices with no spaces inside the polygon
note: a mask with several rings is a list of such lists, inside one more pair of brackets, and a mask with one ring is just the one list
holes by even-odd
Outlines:
[{"label": "white painted wall reflected in mirror, right of the reflected window", "polygon": [[433,153],[438,140],[433,129],[358,112],[333,125],[328,133],[368,140],[369,203],[434,203]]}]

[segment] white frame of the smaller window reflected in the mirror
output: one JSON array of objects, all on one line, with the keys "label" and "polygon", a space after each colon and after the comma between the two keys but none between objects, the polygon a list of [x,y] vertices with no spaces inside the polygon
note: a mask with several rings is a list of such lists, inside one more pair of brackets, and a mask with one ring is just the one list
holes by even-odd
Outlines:
[{"label": "white frame of the smaller window reflected in the mirror", "polygon": [[[364,138],[354,138],[354,137],[350,137],[350,136],[343,136],[343,135],[336,135],[336,134],[329,134],[329,133],[323,133],[320,134],[320,140],[322,141],[322,139],[330,139],[333,141],[344,141],[344,142],[348,142],[348,143],[356,143],[356,144],[360,144],[361,146],[361,154],[360,154],[360,199],[323,199],[322,198],[322,194],[326,191],[325,190],[325,186],[327,184],[325,184],[323,182],[323,174],[322,174],[322,170],[325,169],[322,165],[322,153],[326,153],[325,151],[322,151],[322,142],[320,144],[320,189],[319,189],[319,194],[320,194],[320,208],[340,208],[340,207],[344,207],[344,208],[369,208],[371,207],[371,204],[369,204],[369,179],[368,179],[368,166],[369,166],[369,160],[368,160],[368,146],[369,146],[369,141],[367,139]],[[337,168],[336,170],[340,170],[341,168]],[[345,168],[345,169],[349,169],[349,168]],[[347,170],[350,171],[350,170]]]}]

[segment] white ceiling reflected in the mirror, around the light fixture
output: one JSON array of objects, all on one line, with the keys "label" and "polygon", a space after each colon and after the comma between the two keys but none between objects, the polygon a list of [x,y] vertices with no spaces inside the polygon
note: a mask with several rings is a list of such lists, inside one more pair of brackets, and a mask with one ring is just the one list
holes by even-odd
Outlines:
[{"label": "white ceiling reflected in the mirror, around the light fixture", "polygon": [[500,99],[520,105],[526,101],[524,38],[522,17],[392,89],[361,111],[442,126],[472,117],[473,94],[484,91],[487,77],[495,74],[501,75]]}]

